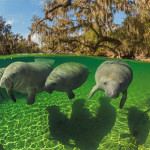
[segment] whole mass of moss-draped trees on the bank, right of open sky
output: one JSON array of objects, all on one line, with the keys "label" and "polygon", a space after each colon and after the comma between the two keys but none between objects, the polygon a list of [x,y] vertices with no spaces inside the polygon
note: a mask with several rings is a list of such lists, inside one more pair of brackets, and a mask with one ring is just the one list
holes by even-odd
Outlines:
[{"label": "whole mass of moss-draped trees on the bank, right of open sky", "polygon": [[[44,17],[33,16],[31,21],[30,48],[31,36],[38,34],[43,53],[131,59],[150,56],[148,0],[43,0],[42,7]],[[114,15],[120,12],[126,19],[118,25]]]}]

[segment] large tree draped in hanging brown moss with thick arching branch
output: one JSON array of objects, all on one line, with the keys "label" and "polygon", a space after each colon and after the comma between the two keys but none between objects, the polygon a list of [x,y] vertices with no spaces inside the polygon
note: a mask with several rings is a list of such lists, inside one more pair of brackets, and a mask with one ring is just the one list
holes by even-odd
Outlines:
[{"label": "large tree draped in hanging brown moss with thick arching branch", "polygon": [[[122,43],[112,37],[118,28],[113,23],[116,11],[124,11],[128,16],[142,13],[141,19],[149,16],[147,0],[45,0],[44,18],[34,16],[31,34],[40,34],[44,46],[51,51],[72,51],[81,47],[94,54],[100,47],[118,55],[116,50]],[[87,39],[86,33],[94,33],[94,39]],[[78,46],[80,45],[80,46]],[[83,51],[83,50],[82,50]]]}]

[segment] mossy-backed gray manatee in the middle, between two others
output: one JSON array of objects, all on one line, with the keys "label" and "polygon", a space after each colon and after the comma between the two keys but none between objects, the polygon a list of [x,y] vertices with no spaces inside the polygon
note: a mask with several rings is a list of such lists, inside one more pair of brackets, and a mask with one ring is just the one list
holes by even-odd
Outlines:
[{"label": "mossy-backed gray manatee in the middle, between two others", "polygon": [[86,66],[75,63],[63,63],[50,73],[45,82],[45,91],[52,93],[55,91],[66,92],[69,99],[74,98],[72,90],[80,87],[87,79],[89,71]]}]

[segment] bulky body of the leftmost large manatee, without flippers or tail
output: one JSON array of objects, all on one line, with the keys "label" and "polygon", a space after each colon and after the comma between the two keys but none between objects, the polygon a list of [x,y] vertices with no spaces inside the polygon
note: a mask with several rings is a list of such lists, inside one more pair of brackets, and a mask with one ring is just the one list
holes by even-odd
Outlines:
[{"label": "bulky body of the leftmost large manatee, without flippers or tail", "polygon": [[28,88],[34,87],[41,91],[51,68],[36,62],[14,62],[6,67],[3,74],[4,88],[13,87],[14,90],[26,93]]}]

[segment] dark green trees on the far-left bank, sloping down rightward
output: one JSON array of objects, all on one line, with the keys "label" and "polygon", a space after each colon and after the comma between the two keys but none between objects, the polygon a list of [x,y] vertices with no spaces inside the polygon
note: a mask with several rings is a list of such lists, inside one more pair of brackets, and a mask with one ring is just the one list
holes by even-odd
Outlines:
[{"label": "dark green trees on the far-left bank, sloping down rightward", "polygon": [[28,41],[21,34],[11,32],[11,25],[6,24],[4,18],[0,16],[0,54],[27,52],[39,52],[38,44],[35,42],[28,44]]}]

